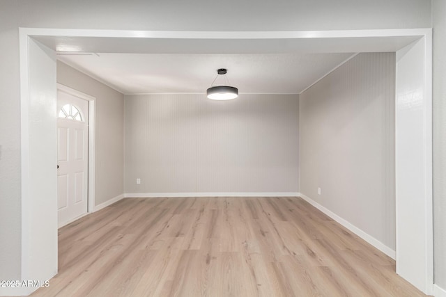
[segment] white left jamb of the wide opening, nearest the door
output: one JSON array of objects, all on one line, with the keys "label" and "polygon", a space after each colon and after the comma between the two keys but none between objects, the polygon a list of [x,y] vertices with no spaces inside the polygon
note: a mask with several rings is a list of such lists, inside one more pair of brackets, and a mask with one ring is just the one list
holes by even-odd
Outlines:
[{"label": "white left jamb of the wide opening, nearest the door", "polygon": [[[48,280],[57,273],[56,53],[29,40],[29,108],[22,122],[22,278]],[[40,131],[47,131],[40,134]],[[24,232],[23,230],[26,230]],[[0,289],[13,288],[2,286]],[[24,287],[24,293],[35,288]]]}]

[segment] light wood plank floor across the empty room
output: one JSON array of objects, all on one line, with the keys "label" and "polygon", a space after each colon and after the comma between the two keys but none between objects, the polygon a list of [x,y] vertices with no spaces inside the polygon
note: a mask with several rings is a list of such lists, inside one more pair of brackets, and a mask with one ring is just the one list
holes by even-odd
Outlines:
[{"label": "light wood plank floor across the empty room", "polygon": [[59,230],[32,296],[424,296],[300,198],[127,198]]}]

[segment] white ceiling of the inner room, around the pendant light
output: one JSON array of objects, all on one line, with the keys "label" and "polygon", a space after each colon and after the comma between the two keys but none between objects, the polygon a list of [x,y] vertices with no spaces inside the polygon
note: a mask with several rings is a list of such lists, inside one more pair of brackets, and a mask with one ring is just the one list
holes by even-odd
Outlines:
[{"label": "white ceiling of the inner room, around the pendant light", "polygon": [[[338,54],[109,54],[58,58],[124,94],[204,93],[226,68],[240,93],[300,93],[352,56]],[[224,84],[218,77],[215,83]]]}]

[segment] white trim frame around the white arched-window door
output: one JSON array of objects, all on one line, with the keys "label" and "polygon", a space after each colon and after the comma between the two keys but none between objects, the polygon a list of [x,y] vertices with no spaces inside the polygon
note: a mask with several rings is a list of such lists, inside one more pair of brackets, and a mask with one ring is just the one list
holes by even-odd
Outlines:
[{"label": "white trim frame around the white arched-window door", "polygon": [[[86,214],[90,214],[94,211],[95,207],[95,100],[96,98],[75,90],[62,83],[57,83],[57,90],[61,90],[67,94],[79,97],[89,102],[89,184],[88,184],[88,202]],[[77,220],[78,218],[75,218]],[[66,224],[67,225],[67,224]]]}]

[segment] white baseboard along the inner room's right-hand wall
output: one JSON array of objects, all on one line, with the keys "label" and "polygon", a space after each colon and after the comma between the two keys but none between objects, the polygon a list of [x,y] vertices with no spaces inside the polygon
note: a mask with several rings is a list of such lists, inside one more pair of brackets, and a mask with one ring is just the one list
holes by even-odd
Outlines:
[{"label": "white baseboard along the inner room's right-hand wall", "polygon": [[395,257],[396,257],[395,251],[392,250],[392,248],[389,248],[388,246],[385,246],[384,243],[378,241],[378,239],[374,238],[374,236],[371,236],[371,235],[367,234],[366,232],[360,230],[358,227],[355,227],[355,225],[353,225],[350,222],[348,222],[348,220],[345,220],[344,218],[341,218],[337,214],[334,214],[329,209],[326,209],[321,204],[318,204],[318,202],[312,200],[312,198],[309,198],[308,196],[306,196],[306,195],[304,195],[302,193],[300,193],[300,197],[303,200],[309,202],[309,204],[312,204],[314,207],[316,207],[317,209],[322,211],[327,216],[330,216],[330,218],[332,218],[333,220],[336,220],[337,223],[343,225],[348,230],[350,230],[351,232],[355,233],[357,236],[360,236],[362,239],[364,239],[364,241],[367,241],[368,243],[370,243],[375,248],[378,248],[378,250],[380,250],[381,252],[384,252],[385,255],[391,257],[392,259],[395,259]]}]

